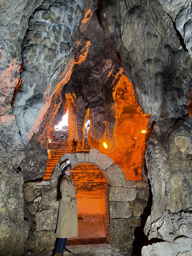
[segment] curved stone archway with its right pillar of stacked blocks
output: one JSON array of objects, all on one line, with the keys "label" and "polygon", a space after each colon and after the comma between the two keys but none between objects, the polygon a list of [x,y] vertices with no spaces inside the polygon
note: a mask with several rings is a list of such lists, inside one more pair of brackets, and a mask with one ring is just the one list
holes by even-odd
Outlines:
[{"label": "curved stone archway with its right pillar of stacked blocks", "polygon": [[[102,171],[106,179],[105,225],[107,242],[115,246],[132,245],[129,218],[132,218],[133,215],[129,201],[136,199],[138,193],[136,183],[131,181],[126,186],[126,176],[121,167],[113,164],[113,159],[101,153],[98,149],[91,148],[89,153],[66,153],[60,158],[60,161],[66,158],[69,158],[72,168],[78,164],[89,163],[96,165]],[[56,184],[59,174],[58,162],[51,175],[50,186],[55,187],[53,184]],[[134,221],[137,221],[140,225],[138,220],[134,219]]]}]

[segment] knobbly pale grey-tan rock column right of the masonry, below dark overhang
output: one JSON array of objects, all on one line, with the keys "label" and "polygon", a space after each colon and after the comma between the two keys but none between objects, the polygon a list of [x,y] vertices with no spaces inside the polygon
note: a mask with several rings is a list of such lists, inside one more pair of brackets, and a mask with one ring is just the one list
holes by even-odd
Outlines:
[{"label": "knobbly pale grey-tan rock column right of the masonry, below dark overhang", "polygon": [[[168,126],[170,123],[166,121]],[[158,236],[157,229],[162,225],[161,217],[167,210],[170,213],[190,210],[191,125],[191,119],[183,119],[173,124],[166,134],[162,134],[162,128],[155,124],[147,143],[146,159],[153,194],[152,212],[145,226],[145,233],[149,232],[149,238]]]}]

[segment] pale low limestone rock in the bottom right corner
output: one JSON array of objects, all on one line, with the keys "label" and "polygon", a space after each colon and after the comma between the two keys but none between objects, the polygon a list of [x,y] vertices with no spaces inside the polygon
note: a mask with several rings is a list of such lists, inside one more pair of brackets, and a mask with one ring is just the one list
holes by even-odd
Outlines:
[{"label": "pale low limestone rock in the bottom right corner", "polygon": [[188,237],[178,237],[174,242],[158,242],[152,245],[143,246],[141,255],[142,256],[174,256],[174,255],[191,255],[192,240]]}]

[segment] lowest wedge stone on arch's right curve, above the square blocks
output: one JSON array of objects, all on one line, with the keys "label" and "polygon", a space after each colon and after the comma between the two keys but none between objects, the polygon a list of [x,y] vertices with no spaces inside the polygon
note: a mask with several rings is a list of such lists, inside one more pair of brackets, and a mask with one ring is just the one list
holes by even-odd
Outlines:
[{"label": "lowest wedge stone on arch's right curve, above the square blocks", "polygon": [[[96,160],[97,161],[97,160]],[[104,172],[106,182],[112,187],[121,187],[126,184],[126,176],[122,168],[117,165],[110,165]]]}]

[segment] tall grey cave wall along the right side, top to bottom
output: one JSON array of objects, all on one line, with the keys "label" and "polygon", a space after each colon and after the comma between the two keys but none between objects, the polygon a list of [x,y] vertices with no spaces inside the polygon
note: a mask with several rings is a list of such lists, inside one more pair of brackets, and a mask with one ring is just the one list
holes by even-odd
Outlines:
[{"label": "tall grey cave wall along the right side, top to bottom", "polygon": [[[161,250],[166,246],[169,255],[173,251],[179,253],[181,235],[187,236],[191,243],[191,218],[184,221],[184,213],[190,215],[192,206],[189,192],[192,126],[187,109],[191,53],[186,50],[191,38],[190,9],[191,3],[187,1],[170,4],[170,1],[112,0],[104,1],[101,11],[105,35],[113,40],[121,55],[122,67],[133,83],[143,112],[150,114],[148,129],[152,133],[146,143],[146,164],[153,203],[145,233],[149,239],[161,238],[166,242],[145,248],[142,255],[151,255],[153,248],[157,255],[163,255]],[[177,225],[174,221],[168,224],[172,216]],[[182,219],[184,226],[178,219]],[[172,243],[173,251],[167,242]]]}]

